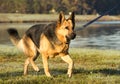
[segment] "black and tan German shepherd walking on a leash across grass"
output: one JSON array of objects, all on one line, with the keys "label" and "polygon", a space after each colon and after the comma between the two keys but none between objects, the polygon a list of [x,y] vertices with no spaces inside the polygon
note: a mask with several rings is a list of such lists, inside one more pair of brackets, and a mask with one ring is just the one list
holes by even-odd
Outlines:
[{"label": "black and tan German shepherd walking on a leash across grass", "polygon": [[60,12],[58,21],[48,25],[34,25],[26,31],[22,38],[20,38],[16,29],[9,28],[7,31],[11,41],[28,57],[24,64],[24,75],[27,74],[29,63],[31,63],[35,71],[39,71],[34,61],[41,53],[46,76],[51,77],[48,68],[48,58],[59,55],[62,60],[68,63],[67,74],[71,77],[73,60],[68,53],[68,49],[70,41],[76,37],[74,27],[74,12],[71,13],[68,19],[65,19],[63,12]]}]

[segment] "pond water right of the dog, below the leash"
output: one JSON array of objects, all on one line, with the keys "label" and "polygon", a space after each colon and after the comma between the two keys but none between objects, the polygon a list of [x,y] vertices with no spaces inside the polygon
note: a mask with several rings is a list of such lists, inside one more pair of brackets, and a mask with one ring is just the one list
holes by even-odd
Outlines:
[{"label": "pond water right of the dog, below the leash", "polygon": [[120,50],[120,21],[99,21],[90,27],[78,33],[71,47]]}]

